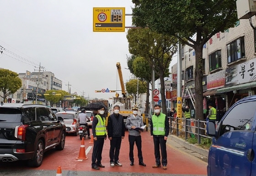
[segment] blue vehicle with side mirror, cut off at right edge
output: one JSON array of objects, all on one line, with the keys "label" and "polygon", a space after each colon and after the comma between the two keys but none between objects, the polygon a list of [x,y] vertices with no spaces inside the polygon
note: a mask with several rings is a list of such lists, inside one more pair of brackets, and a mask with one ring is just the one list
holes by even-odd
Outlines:
[{"label": "blue vehicle with side mirror, cut off at right edge", "polygon": [[207,122],[213,136],[208,154],[208,176],[256,175],[256,95],[237,101],[224,114],[217,128]]}]

